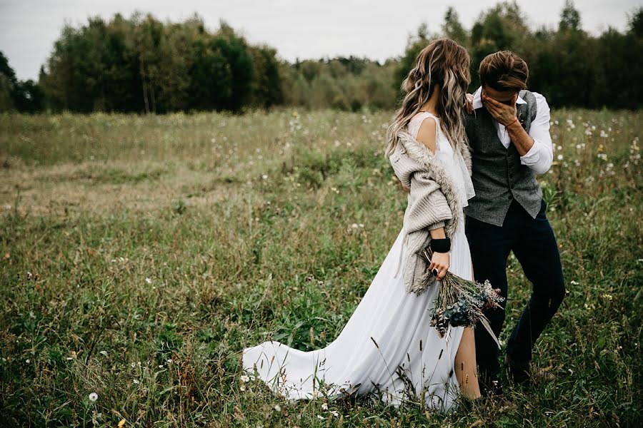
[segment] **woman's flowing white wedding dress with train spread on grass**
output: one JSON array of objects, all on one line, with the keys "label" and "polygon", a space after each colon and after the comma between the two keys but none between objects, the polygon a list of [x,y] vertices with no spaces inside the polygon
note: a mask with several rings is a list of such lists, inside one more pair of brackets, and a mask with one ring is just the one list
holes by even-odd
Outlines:
[{"label": "woman's flowing white wedding dress with train spread on grass", "polygon": [[[407,128],[412,136],[427,116],[432,115],[422,112],[412,118]],[[462,155],[441,131],[437,132],[436,157],[452,178],[464,207],[473,196],[473,186]],[[472,279],[464,215],[460,218],[452,238],[449,271]],[[438,286],[419,296],[404,290],[404,235],[402,228],[337,339],[309,352],[276,341],[245,348],[246,374],[253,378],[256,367],[259,379],[292,400],[374,393],[395,407],[408,400],[423,402],[433,411],[452,409],[459,392],[454,358],[464,327],[451,327],[440,338],[429,325]]]}]

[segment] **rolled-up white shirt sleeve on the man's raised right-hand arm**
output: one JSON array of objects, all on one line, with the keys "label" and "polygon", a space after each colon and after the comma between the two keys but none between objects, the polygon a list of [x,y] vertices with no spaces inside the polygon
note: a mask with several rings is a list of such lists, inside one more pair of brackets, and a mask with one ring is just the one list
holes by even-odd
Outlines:
[{"label": "rolled-up white shirt sleeve on the man's raised right-hand arm", "polygon": [[529,128],[529,136],[534,139],[534,146],[520,156],[520,163],[532,168],[537,174],[546,173],[554,161],[552,136],[549,134],[549,105],[541,94],[533,92],[536,97],[536,118]]}]

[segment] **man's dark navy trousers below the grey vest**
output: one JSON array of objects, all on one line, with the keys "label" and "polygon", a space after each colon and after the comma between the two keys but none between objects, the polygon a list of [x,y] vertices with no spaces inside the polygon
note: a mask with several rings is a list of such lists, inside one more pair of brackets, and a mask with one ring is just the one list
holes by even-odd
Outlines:
[{"label": "man's dark navy trousers below the grey vest", "polygon": [[[489,280],[499,288],[503,297],[502,309],[487,310],[492,330],[499,337],[507,306],[507,258],[513,251],[525,277],[532,282],[532,295],[507,342],[507,356],[519,364],[532,359],[534,342],[552,319],[565,295],[558,244],[549,220],[547,204],[542,201],[536,218],[513,200],[501,227],[467,217],[465,233],[469,240],[474,277],[478,282]],[[498,346],[489,332],[475,328],[476,358],[479,374],[485,379],[498,379],[500,365]]]}]

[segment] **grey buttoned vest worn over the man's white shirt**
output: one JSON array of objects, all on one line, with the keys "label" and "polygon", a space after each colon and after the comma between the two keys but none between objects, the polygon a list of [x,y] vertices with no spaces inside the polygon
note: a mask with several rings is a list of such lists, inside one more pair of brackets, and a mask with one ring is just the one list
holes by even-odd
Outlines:
[{"label": "grey buttoned vest worn over the man's white shirt", "polygon": [[[529,91],[520,91],[519,95],[527,103],[516,105],[518,120],[529,132],[536,117],[536,97]],[[536,173],[520,163],[520,155],[513,143],[504,148],[486,108],[478,108],[474,114],[466,116],[476,195],[469,199],[464,213],[485,223],[502,226],[515,198],[532,218],[536,218],[542,200]]]}]

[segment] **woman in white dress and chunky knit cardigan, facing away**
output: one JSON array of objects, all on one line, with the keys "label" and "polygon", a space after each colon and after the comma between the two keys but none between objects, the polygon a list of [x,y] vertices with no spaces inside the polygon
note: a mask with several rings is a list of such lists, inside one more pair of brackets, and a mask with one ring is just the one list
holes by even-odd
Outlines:
[{"label": "woman in white dress and chunky knit cardigan, facing away", "polygon": [[[339,336],[304,352],[274,340],[242,352],[246,375],[291,400],[377,394],[395,407],[419,403],[448,411],[477,399],[474,332],[430,325],[447,270],[473,279],[462,208],[474,196],[464,101],[469,54],[437,39],[417,56],[402,83],[402,106],[384,155],[409,191],[404,225]],[[431,246],[431,263],[420,250]]]}]

